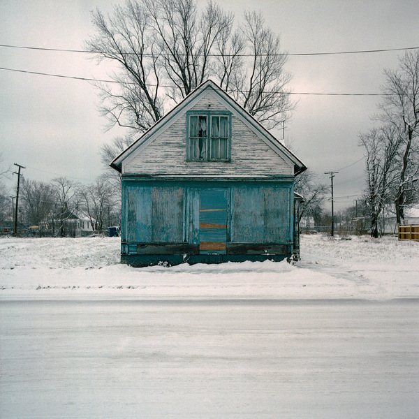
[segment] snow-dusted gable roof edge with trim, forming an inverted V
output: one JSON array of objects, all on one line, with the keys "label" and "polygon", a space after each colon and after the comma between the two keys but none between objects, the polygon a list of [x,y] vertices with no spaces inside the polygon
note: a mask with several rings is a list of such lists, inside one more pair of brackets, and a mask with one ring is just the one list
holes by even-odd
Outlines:
[{"label": "snow-dusted gable roof edge with trim, forming an inverted V", "polygon": [[[270,131],[267,131],[267,129],[260,124],[254,117],[252,117],[247,110],[245,110],[239,103],[237,103],[233,98],[231,98],[226,91],[223,91],[221,87],[219,87],[217,84],[215,84],[212,80],[207,80],[206,82],[203,82],[200,84],[196,89],[191,91],[191,93],[186,96],[186,98],[183,99],[182,102],[178,103],[175,108],[172,108],[170,112],[168,112],[164,117],[159,119],[156,124],[151,126],[145,133],[143,133],[138,140],[133,142],[128,148],[126,148],[119,156],[115,157],[115,159],[110,163],[110,166],[117,170],[118,172],[122,172],[122,162],[125,159],[128,159],[128,157],[133,156],[135,152],[138,149],[142,149],[144,147],[147,147],[149,142],[152,142],[155,138],[157,133],[166,126],[166,124],[170,121],[170,119],[174,119],[177,115],[182,115],[182,110],[185,110],[186,107],[189,107],[188,105],[191,105],[192,102],[196,101],[197,98],[201,94],[203,94],[204,91],[207,91],[207,89],[211,89],[214,91],[219,98],[221,98],[224,102],[226,102],[228,105],[230,105],[237,115],[244,120],[244,122],[247,122],[249,127],[258,133],[262,140],[266,142],[268,146],[270,146],[274,152],[279,154],[283,159],[286,159],[287,161],[290,161],[294,165],[294,174],[298,175],[301,172],[304,172],[304,170],[307,169],[307,167],[300,161],[300,159],[297,159],[297,156],[290,152],[277,138],[274,137],[270,133]],[[186,111],[185,111],[186,112]]]}]

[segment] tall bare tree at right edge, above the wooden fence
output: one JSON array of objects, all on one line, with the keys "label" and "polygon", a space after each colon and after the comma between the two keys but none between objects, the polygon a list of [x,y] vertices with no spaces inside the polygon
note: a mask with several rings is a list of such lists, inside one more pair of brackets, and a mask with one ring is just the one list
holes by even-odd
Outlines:
[{"label": "tall bare tree at right edge, above the wooden fence", "polygon": [[419,51],[406,52],[397,70],[385,70],[383,93],[380,119],[399,136],[393,199],[397,223],[404,223],[406,207],[419,198]]}]

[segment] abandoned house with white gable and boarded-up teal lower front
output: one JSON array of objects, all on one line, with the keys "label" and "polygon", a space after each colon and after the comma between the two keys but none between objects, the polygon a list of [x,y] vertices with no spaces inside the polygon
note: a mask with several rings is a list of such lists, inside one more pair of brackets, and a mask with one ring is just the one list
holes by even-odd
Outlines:
[{"label": "abandoned house with white gable and boarded-up teal lower front", "polygon": [[122,262],[282,260],[298,249],[294,178],[306,167],[208,80],[112,161]]}]

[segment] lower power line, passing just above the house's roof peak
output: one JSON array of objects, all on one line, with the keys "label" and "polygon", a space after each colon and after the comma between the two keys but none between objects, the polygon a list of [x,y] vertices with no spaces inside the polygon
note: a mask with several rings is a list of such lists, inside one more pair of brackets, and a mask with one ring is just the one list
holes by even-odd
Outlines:
[{"label": "lower power line, passing just above the house's roof peak", "polygon": [[[39,71],[27,71],[27,70],[18,70],[17,68],[6,68],[0,67],[0,70],[6,71],[15,71],[17,73],[27,73],[27,74],[36,74],[36,75],[47,75],[50,77],[57,77],[57,78],[66,78],[66,79],[73,79],[73,80],[82,80],[86,82],[103,82],[103,83],[117,83],[119,82],[115,80],[101,80],[101,79],[94,79],[94,78],[86,78],[86,77],[77,77],[73,75],[61,75],[61,74],[53,74],[53,73],[41,73]],[[134,82],[126,82],[126,84],[136,84]],[[149,87],[156,87],[156,84],[147,84]],[[170,86],[165,86],[163,84],[159,84],[160,87],[170,88]],[[237,90],[229,90],[235,91]],[[244,93],[249,93],[249,91],[242,91]],[[302,95],[302,96],[398,96],[397,94],[391,93],[316,93],[316,92],[308,92],[308,91],[267,91],[266,94],[292,94],[292,95]]]}]

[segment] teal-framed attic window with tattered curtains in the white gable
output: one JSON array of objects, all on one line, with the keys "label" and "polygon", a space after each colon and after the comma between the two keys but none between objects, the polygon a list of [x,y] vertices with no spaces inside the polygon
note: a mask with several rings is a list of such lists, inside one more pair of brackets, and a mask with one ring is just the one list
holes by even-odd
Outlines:
[{"label": "teal-framed attic window with tattered curtains in the white gable", "polygon": [[190,113],[186,158],[188,161],[230,160],[230,113]]}]

